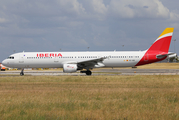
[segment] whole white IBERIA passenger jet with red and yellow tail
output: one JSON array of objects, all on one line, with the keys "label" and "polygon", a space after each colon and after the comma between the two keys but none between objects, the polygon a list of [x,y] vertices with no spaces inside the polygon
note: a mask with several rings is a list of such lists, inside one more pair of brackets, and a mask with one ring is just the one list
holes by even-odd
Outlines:
[{"label": "whole white IBERIA passenger jet with red and yellow tail", "polygon": [[[91,75],[99,67],[134,67],[158,62],[173,54],[169,46],[174,28],[166,28],[152,46],[145,51],[110,52],[21,52],[10,55],[2,64],[11,68],[63,68],[63,72]],[[84,70],[85,69],[85,70]]]}]

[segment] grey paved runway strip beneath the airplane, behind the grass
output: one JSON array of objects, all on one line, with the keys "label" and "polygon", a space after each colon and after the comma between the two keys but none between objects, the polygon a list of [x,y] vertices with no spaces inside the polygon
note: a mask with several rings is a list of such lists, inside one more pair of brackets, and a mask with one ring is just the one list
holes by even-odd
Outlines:
[{"label": "grey paved runway strip beneath the airplane, behind the grass", "polygon": [[[18,76],[19,74],[20,70],[0,72],[0,76]],[[24,74],[30,76],[86,76],[86,74],[79,71],[75,73],[63,73],[61,70],[25,70]],[[179,75],[179,69],[94,69],[92,76],[96,75]]]}]

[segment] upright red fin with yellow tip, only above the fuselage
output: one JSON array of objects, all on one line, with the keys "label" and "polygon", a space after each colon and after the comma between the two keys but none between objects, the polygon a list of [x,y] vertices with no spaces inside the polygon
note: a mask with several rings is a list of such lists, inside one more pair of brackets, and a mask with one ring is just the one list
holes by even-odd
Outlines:
[{"label": "upright red fin with yellow tip, only above the fuselage", "polygon": [[174,28],[166,28],[147,51],[168,53],[170,42],[171,42],[172,35],[173,35],[173,30]]}]

